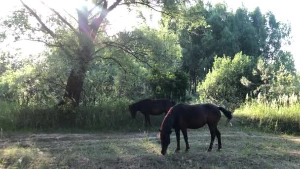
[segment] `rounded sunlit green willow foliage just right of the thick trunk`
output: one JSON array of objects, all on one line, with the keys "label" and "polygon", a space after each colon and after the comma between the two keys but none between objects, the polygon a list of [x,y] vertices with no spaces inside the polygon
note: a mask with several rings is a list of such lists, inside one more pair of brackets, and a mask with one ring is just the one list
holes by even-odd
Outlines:
[{"label": "rounded sunlit green willow foliage just right of the thick trunk", "polygon": [[[83,104],[98,105],[106,97],[138,100],[153,96],[151,72],[173,73],[180,66],[177,41],[177,36],[168,30],[141,27],[120,32],[118,38],[108,42],[111,47],[91,63],[84,82]],[[131,49],[126,52],[118,47]]]}]

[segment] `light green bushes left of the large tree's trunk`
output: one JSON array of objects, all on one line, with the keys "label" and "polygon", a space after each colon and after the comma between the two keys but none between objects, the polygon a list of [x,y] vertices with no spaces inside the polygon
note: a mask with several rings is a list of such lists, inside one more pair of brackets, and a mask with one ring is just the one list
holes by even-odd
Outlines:
[{"label": "light green bushes left of the large tree's trunk", "polygon": [[[49,53],[44,53],[46,56]],[[0,77],[1,100],[21,105],[54,105],[62,95],[68,62],[53,52],[47,59],[35,63],[23,60],[18,68],[8,68]],[[61,62],[59,62],[61,61]]]}]

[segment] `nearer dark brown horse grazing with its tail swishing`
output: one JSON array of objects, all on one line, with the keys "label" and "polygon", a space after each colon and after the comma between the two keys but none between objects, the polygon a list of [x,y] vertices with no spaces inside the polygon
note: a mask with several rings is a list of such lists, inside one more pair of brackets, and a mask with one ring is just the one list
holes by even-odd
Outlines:
[{"label": "nearer dark brown horse grazing with its tail swishing", "polygon": [[226,122],[227,125],[229,120],[232,118],[232,112],[214,104],[177,104],[176,106],[172,107],[164,118],[161,128],[159,129],[161,154],[165,155],[167,152],[167,148],[170,144],[170,134],[172,128],[175,129],[176,133],[176,151],[180,150],[180,130],[184,135],[186,141],[186,151],[188,151],[189,145],[187,128],[196,129],[203,127],[205,124],[208,125],[211,134],[211,141],[207,151],[212,150],[216,135],[218,138],[218,150],[221,150],[221,133],[217,128],[218,122],[221,119],[220,110],[228,118]]}]

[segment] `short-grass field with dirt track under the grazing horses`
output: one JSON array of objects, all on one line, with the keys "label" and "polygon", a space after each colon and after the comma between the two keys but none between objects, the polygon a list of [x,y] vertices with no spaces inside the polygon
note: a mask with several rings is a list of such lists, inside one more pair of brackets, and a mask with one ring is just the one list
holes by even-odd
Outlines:
[{"label": "short-grass field with dirt track under the grazing horses", "polygon": [[160,154],[156,128],[149,132],[1,133],[0,168],[40,169],[216,169],[300,168],[300,137],[273,135],[239,126],[219,124],[223,149],[206,152],[208,127],[188,130],[189,152],[181,135],[174,153],[175,133],[167,155]]}]

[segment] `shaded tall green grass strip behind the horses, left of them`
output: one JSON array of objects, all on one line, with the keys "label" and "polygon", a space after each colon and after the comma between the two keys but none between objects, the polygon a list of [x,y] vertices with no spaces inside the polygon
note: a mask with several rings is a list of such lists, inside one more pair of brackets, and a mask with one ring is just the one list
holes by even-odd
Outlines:
[{"label": "shaded tall green grass strip behind the horses, left of them", "polygon": [[[95,129],[95,130],[131,130],[143,129],[144,116],[137,113],[132,119],[127,99],[109,99],[98,106],[70,108],[68,106],[30,107],[0,101],[0,128],[5,130],[52,130]],[[151,116],[154,126],[159,126],[161,116]]]}]

